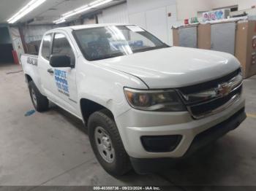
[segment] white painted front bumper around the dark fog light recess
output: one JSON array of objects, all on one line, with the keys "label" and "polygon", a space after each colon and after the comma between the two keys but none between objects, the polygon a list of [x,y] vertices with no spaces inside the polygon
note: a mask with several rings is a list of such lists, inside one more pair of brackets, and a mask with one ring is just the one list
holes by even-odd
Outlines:
[{"label": "white painted front bumper around the dark fog light recess", "polygon": [[[245,100],[242,96],[239,101],[224,111],[201,120],[193,120],[189,112],[143,112],[130,109],[116,117],[116,124],[124,148],[130,157],[137,159],[177,158],[183,157],[188,152],[192,141],[198,134],[228,120],[244,109],[244,105]],[[171,152],[148,152],[141,142],[143,136],[172,135],[181,135],[182,139],[176,149]]]}]

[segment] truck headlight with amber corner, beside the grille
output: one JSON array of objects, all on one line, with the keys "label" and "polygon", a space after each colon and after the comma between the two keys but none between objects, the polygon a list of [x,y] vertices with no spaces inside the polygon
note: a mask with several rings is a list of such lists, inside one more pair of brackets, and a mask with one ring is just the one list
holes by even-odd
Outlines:
[{"label": "truck headlight with amber corner, beside the grille", "polygon": [[186,108],[175,90],[134,90],[124,88],[130,106],[143,111],[184,112]]}]

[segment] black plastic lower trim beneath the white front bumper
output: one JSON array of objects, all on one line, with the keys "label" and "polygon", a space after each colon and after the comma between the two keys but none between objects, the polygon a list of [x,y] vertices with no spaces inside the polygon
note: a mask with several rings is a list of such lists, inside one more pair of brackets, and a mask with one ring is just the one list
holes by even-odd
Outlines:
[{"label": "black plastic lower trim beneath the white front bumper", "polygon": [[[202,133],[195,136],[189,149],[183,157],[188,157],[198,149],[210,144],[211,142],[224,136],[230,130],[238,128],[238,126],[246,119],[244,108],[233,114],[232,117],[228,118],[224,122],[209,128]],[[156,158],[156,159],[141,159],[130,157],[132,166],[138,174],[145,174],[152,171],[158,171],[159,169],[165,168],[172,161],[170,158]]]}]

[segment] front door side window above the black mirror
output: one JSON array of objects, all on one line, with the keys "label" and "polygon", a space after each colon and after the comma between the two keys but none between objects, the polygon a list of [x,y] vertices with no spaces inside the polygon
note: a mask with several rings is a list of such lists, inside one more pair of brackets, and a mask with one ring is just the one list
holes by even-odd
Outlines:
[{"label": "front door side window above the black mirror", "polygon": [[75,63],[75,55],[64,34],[55,34],[53,39],[53,55],[67,55],[71,63]]}]

